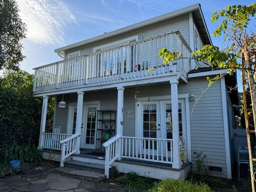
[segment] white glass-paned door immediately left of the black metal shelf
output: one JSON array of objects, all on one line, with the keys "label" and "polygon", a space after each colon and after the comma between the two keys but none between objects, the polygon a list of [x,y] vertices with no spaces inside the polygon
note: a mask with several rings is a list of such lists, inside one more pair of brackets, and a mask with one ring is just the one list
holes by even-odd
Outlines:
[{"label": "white glass-paned door immediately left of the black metal shelf", "polygon": [[97,105],[86,105],[84,108],[84,123],[82,130],[82,148],[96,148]]}]

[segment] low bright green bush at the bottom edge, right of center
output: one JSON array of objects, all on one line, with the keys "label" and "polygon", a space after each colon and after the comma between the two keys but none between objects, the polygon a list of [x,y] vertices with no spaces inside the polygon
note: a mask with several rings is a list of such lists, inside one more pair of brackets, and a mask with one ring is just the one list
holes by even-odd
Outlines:
[{"label": "low bright green bush at the bottom edge, right of center", "polygon": [[199,185],[186,180],[166,179],[154,184],[150,192],[211,192],[211,188],[203,183]]}]

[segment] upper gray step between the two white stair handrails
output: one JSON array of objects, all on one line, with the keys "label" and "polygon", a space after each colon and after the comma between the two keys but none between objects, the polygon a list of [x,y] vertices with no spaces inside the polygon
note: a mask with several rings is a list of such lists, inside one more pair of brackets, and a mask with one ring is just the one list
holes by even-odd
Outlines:
[{"label": "upper gray step between the two white stair handrails", "polygon": [[[105,173],[105,165],[102,164],[96,164],[96,163],[87,163],[87,162],[82,162],[82,161],[76,161],[76,160],[71,160],[65,162],[66,167],[72,167],[75,169],[79,170],[85,170],[85,171],[93,171],[93,172],[98,172],[98,173]],[[109,166],[109,174],[110,177],[111,175],[114,175],[116,171],[116,167],[113,165]]]}]

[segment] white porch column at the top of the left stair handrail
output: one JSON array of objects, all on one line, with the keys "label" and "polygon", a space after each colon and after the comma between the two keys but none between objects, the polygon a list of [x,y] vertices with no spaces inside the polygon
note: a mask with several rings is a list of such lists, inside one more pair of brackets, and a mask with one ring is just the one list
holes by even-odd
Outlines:
[{"label": "white porch column at the top of the left stair handrail", "polygon": [[[82,117],[83,117],[83,99],[84,92],[77,92],[77,110],[76,110],[76,134],[81,133]],[[76,154],[80,153],[80,137],[77,138]]]}]

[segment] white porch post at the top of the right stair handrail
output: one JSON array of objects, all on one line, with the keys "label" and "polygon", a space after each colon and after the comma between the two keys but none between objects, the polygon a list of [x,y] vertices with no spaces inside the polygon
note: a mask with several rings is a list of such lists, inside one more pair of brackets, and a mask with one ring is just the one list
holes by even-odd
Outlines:
[{"label": "white porch post at the top of the right stair handrail", "polygon": [[[123,136],[123,113],[124,113],[124,87],[117,87],[117,130],[119,137]],[[118,159],[121,159],[121,139],[118,141]]]}]

